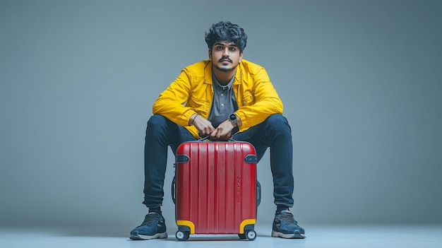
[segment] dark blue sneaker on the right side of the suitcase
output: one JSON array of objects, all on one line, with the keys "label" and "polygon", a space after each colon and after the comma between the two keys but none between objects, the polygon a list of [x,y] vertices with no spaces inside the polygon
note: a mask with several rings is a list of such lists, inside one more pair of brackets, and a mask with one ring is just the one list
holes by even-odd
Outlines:
[{"label": "dark blue sneaker on the right side of the suitcase", "polygon": [[284,237],[286,239],[304,239],[304,228],[301,228],[294,220],[293,214],[284,210],[275,214],[273,220],[272,237]]}]

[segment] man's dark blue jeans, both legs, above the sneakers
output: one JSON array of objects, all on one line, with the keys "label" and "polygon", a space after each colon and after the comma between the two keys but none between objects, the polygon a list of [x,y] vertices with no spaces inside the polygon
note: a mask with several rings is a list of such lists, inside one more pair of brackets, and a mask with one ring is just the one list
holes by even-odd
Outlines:
[{"label": "man's dark blue jeans, both legs, above the sneakers", "polygon": [[[292,130],[287,119],[273,114],[261,124],[234,134],[237,141],[247,141],[256,148],[258,162],[270,147],[270,168],[273,175],[275,204],[293,206]],[[185,141],[195,141],[184,126],[171,122],[166,117],[154,114],[148,121],[144,148],[144,201],[148,208],[162,205],[167,164],[168,147],[176,152]]]}]

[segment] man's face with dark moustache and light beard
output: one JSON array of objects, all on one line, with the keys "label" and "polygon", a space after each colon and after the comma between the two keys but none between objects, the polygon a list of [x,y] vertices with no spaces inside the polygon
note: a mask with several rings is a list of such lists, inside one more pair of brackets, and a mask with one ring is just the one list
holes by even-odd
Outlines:
[{"label": "man's face with dark moustache and light beard", "polygon": [[213,68],[219,71],[232,71],[241,62],[243,52],[233,42],[215,42],[209,49],[209,59],[212,60]]}]

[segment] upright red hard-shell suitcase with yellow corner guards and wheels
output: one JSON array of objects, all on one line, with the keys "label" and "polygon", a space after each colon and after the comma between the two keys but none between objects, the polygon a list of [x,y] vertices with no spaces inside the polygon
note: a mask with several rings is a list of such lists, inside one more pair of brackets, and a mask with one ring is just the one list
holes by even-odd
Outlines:
[{"label": "upright red hard-shell suitcase with yellow corner guards and wheels", "polygon": [[254,240],[261,187],[256,150],[244,141],[189,141],[177,148],[172,183],[178,240],[238,234]]}]

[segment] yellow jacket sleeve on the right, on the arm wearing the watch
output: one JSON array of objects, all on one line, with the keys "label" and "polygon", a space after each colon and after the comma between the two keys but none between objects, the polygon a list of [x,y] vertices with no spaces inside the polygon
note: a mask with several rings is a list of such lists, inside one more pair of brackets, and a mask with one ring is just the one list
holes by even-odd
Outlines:
[{"label": "yellow jacket sleeve on the right, on the arm wearing the watch", "polygon": [[[272,114],[282,114],[282,101],[270,82],[267,71],[260,67],[252,80],[252,95],[243,96],[244,105],[239,107],[236,112],[242,122],[239,131],[244,131],[251,126],[264,122]],[[248,102],[251,102],[251,104],[248,104]]]}]

